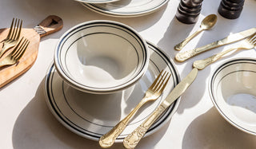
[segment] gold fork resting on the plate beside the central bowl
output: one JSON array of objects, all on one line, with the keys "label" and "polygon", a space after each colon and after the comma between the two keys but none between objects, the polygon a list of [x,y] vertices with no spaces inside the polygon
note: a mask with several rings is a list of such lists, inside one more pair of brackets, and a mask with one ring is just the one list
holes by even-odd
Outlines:
[{"label": "gold fork resting on the plate beside the central bowl", "polygon": [[164,88],[166,88],[166,84],[170,79],[170,74],[163,73],[163,71],[158,75],[158,77],[154,80],[153,84],[151,84],[150,88],[148,88],[145,92],[145,96],[138,103],[138,105],[126,116],[122,121],[120,121],[114,128],[112,128],[109,132],[99,139],[99,144],[103,148],[111,147],[114,143],[114,140],[122,133],[125,129],[126,125],[129,123],[131,118],[138,112],[138,109],[142,107],[143,104],[150,100],[157,100],[158,97],[162,94]]}]

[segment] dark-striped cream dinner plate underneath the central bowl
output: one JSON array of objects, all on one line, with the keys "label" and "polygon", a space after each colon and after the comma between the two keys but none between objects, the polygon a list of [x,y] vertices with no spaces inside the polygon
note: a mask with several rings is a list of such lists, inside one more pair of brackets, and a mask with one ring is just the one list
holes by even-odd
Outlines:
[{"label": "dark-striped cream dinner plate underneath the central bowl", "polygon": [[[171,73],[165,92],[158,100],[144,105],[138,111],[125,131],[118,136],[117,142],[121,142],[126,135],[142,124],[143,120],[146,120],[146,117],[158,107],[180,80],[174,62],[170,61],[170,58],[158,47],[149,42],[147,44],[150,49],[150,65],[146,74],[133,87],[113,94],[97,95],[74,89],[62,80],[54,64],[50,65],[45,81],[46,102],[50,111],[70,131],[87,139],[98,140],[142,100],[144,92],[162,69]],[[145,136],[157,131],[170,120],[178,108],[179,100],[174,101],[170,108],[166,109]]]}]

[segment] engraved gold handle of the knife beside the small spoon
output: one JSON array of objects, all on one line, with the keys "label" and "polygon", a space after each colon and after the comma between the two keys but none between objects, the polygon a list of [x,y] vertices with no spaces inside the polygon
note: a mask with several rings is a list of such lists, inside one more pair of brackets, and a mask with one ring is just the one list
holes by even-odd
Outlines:
[{"label": "engraved gold handle of the knife beside the small spoon", "polygon": [[197,49],[190,49],[190,50],[187,50],[187,51],[182,52],[182,53],[177,53],[176,56],[175,56],[175,60],[180,61],[180,62],[186,61],[189,58],[198,55],[199,53],[206,52],[209,49],[217,48],[220,45],[223,45],[221,41],[215,41],[211,44],[202,46],[202,47],[197,48]]}]

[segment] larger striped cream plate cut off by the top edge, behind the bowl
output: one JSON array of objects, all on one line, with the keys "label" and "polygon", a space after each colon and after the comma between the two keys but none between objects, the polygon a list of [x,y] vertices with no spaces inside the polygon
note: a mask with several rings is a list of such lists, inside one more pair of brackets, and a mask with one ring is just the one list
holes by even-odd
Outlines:
[{"label": "larger striped cream plate cut off by the top edge, behind the bowl", "polygon": [[90,10],[113,17],[137,17],[153,13],[169,0],[121,0],[104,4],[90,4],[81,2]]}]

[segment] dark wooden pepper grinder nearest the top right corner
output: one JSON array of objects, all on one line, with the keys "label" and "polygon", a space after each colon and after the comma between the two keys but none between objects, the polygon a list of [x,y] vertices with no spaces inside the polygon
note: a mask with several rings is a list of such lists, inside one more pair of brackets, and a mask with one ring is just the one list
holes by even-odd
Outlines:
[{"label": "dark wooden pepper grinder nearest the top right corner", "polygon": [[224,18],[235,19],[242,13],[245,0],[222,0],[218,6],[218,14]]}]

